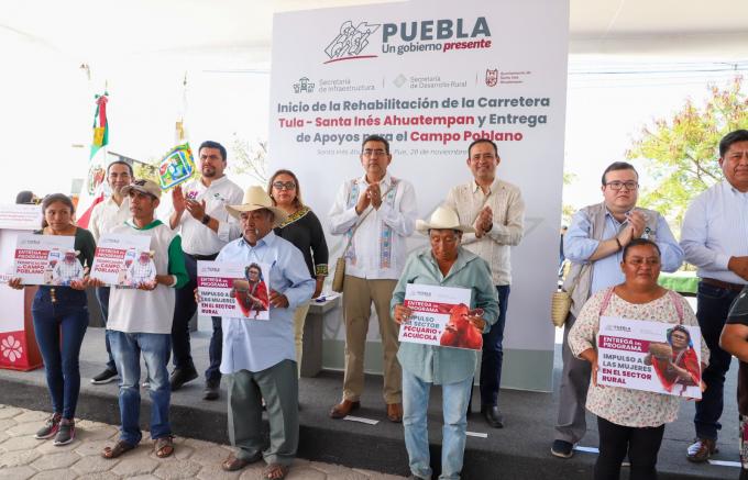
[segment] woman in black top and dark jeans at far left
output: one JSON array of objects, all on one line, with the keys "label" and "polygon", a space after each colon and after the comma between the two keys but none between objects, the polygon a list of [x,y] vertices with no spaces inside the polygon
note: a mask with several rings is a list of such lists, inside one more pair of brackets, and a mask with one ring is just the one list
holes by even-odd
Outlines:
[{"label": "woman in black top and dark jeans at far left", "polygon": [[[75,237],[74,249],[78,260],[90,268],[96,243],[91,233],[72,223],[75,206],[63,193],[54,193],[42,201],[42,230],[40,235],[66,235]],[[20,278],[8,282],[22,289]],[[36,343],[44,359],[47,388],[52,397],[53,414],[35,437],[55,437],[55,445],[66,445],[75,438],[75,410],[80,391],[78,356],[86,327],[88,306],[85,280],[73,280],[69,286],[40,286],[31,306]]]}]

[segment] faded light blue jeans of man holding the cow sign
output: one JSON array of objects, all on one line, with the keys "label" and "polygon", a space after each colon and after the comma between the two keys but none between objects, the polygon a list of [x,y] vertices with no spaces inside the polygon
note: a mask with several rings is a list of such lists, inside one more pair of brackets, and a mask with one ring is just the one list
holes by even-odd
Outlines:
[{"label": "faded light blue jeans of man holding the cow sign", "polygon": [[[465,453],[465,429],[468,427],[468,399],[473,377],[441,386],[442,427],[440,479],[460,478],[462,458]],[[429,406],[431,383],[403,369],[403,427],[405,447],[408,450],[410,472],[417,477],[431,478],[429,438],[426,414]]]}]

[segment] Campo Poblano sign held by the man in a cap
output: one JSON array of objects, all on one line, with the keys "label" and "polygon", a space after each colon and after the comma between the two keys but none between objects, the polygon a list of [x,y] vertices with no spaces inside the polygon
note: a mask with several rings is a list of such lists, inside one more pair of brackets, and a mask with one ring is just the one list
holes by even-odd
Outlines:
[{"label": "Campo Poblano sign held by the man in a cap", "polygon": [[109,286],[138,288],[156,279],[151,237],[146,235],[105,234],[94,255],[91,278]]}]

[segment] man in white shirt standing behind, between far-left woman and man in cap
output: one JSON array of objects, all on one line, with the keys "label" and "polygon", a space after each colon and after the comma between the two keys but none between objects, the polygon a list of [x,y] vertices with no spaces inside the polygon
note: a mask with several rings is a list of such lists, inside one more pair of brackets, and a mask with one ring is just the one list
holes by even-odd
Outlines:
[{"label": "man in white shirt standing behind, between far-left woman and man in cap", "polygon": [[[130,198],[122,194],[122,189],[129,186],[132,179],[132,167],[127,161],[112,161],[107,167],[107,183],[109,183],[111,189],[111,197],[94,206],[91,217],[88,221],[88,230],[97,243],[101,235],[110,233],[112,228],[122,225],[125,220],[132,216],[130,213]],[[99,301],[101,319],[106,327],[109,317],[109,287],[97,288],[96,299]],[[109,360],[103,371],[91,379],[94,384],[109,383],[117,380],[118,377],[117,366],[114,365],[114,358],[109,345],[109,331],[105,332],[105,344]]]}]

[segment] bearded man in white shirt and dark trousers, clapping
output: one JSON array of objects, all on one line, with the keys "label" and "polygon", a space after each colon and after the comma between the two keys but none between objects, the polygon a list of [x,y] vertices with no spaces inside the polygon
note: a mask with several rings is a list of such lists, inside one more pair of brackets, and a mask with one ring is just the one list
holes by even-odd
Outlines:
[{"label": "bearded man in white shirt and dark trousers, clapping", "polygon": [[[172,325],[172,351],[174,371],[169,378],[172,391],[198,377],[189,345],[189,321],[197,311],[194,290],[197,288],[197,261],[215,260],[219,250],[241,235],[239,224],[230,216],[226,205],[242,200],[242,189],[223,174],[227,153],[218,142],[204,142],[198,150],[200,178],[172,190],[174,204],[169,225],[182,234],[182,249],[189,275],[187,284],[176,291],[176,306]],[[213,334],[210,337],[206,370],[204,400],[216,400],[221,383],[221,319],[212,317]]]}]

